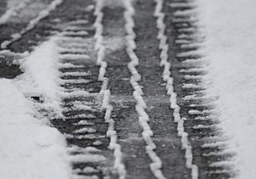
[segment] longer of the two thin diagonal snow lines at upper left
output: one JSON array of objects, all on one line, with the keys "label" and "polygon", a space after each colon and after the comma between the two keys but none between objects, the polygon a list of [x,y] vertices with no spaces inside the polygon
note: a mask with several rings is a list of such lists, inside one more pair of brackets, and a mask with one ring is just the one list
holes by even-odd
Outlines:
[{"label": "longer of the two thin diagonal snow lines at upper left", "polygon": [[57,6],[62,4],[63,0],[54,0],[53,2],[50,3],[49,6],[45,10],[42,10],[39,12],[38,17],[32,19],[29,24],[24,28],[20,33],[12,34],[11,39],[4,41],[1,43],[1,48],[6,49],[7,46],[10,46],[13,42],[18,41],[20,38],[22,38],[23,34],[26,34],[28,31],[33,30],[34,27],[40,22],[43,18],[46,18],[49,14],[50,11],[55,10]]}]

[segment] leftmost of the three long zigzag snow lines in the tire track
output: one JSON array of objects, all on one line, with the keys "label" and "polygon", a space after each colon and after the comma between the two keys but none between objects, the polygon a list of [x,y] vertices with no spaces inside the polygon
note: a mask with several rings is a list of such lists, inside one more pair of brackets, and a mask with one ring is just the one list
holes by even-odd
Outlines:
[{"label": "leftmost of the three long zigzag snow lines in the tire track", "polygon": [[100,66],[98,81],[102,82],[102,88],[100,93],[104,95],[102,102],[102,109],[106,109],[105,113],[105,121],[109,124],[108,130],[106,132],[106,136],[110,137],[110,145],[109,148],[114,150],[114,169],[118,170],[119,179],[126,178],[126,167],[122,162],[122,149],[121,145],[117,143],[117,132],[114,129],[114,120],[111,117],[111,113],[113,110],[113,106],[110,105],[110,90],[108,88],[109,79],[105,77],[107,63],[103,61],[105,57],[105,46],[103,46],[103,26],[102,26],[102,6],[104,0],[97,0],[94,15],[96,16],[94,27],[95,27],[95,35],[94,38],[96,40],[95,50],[97,50],[98,58],[96,64]]}]

